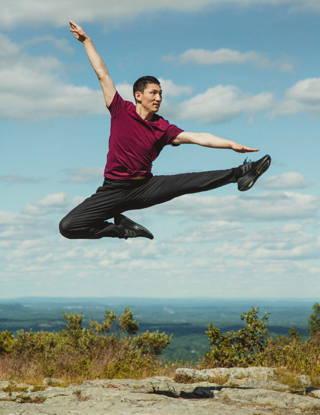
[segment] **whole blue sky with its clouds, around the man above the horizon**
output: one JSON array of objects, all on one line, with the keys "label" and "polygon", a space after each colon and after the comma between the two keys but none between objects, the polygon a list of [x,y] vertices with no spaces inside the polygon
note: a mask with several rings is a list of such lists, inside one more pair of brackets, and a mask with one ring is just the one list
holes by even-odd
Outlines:
[{"label": "whole blue sky with its clouds, around the man above the horizon", "polygon": [[[20,3],[20,4],[17,4]],[[132,100],[161,81],[160,115],[260,148],[253,189],[186,195],[128,216],[155,235],[69,241],[61,218],[103,181],[110,115],[74,20]],[[319,295],[320,3],[8,2],[0,16],[0,298]],[[167,146],[154,174],[245,156]]]}]

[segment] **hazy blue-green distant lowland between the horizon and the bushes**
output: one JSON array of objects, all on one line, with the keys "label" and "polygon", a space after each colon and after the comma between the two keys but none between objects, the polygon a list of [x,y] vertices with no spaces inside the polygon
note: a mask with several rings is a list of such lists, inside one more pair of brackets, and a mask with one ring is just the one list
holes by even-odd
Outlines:
[{"label": "hazy blue-green distant lowland between the horizon and the bushes", "polygon": [[242,327],[240,314],[253,306],[271,312],[269,334],[287,334],[294,327],[307,336],[307,319],[319,299],[212,299],[212,298],[37,298],[0,300],[0,332],[9,330],[59,331],[65,328],[64,311],[83,312],[83,325],[89,319],[101,321],[106,309],[121,314],[126,306],[140,324],[140,332],[157,329],[173,334],[165,348],[167,359],[198,360],[209,348],[204,331],[208,323],[222,331]]}]

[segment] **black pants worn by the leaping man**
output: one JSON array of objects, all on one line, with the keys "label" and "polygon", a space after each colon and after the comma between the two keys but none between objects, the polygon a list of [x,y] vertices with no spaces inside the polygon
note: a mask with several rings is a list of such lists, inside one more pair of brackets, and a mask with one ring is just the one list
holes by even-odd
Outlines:
[{"label": "black pants worn by the leaping man", "polygon": [[96,193],[72,209],[60,222],[60,233],[69,239],[124,238],[122,226],[105,222],[126,210],[167,202],[188,193],[204,192],[235,183],[233,169],[153,176],[137,180],[105,178]]}]

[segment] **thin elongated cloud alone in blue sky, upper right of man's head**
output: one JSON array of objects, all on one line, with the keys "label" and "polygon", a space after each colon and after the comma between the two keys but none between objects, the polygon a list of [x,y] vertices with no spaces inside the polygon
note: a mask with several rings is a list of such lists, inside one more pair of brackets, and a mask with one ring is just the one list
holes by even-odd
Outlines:
[{"label": "thin elongated cloud alone in blue sky, upper right of man's head", "polygon": [[162,59],[178,64],[194,63],[198,65],[252,64],[258,68],[278,68],[282,71],[292,71],[293,65],[288,62],[272,62],[262,53],[256,51],[239,52],[227,48],[218,50],[188,49],[178,56],[165,55]]}]

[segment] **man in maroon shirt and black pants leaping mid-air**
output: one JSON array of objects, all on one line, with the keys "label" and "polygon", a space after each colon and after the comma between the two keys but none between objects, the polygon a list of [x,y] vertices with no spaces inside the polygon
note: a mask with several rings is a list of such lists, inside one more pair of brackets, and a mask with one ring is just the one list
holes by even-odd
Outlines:
[{"label": "man in maroon shirt and black pants leaping mid-air", "polygon": [[[160,82],[143,76],[133,85],[136,106],[124,101],[114,86],[108,70],[88,35],[69,21],[76,39],[83,43],[91,65],[100,81],[105,103],[111,113],[109,152],[104,182],[96,193],[69,212],[60,222],[60,233],[69,239],[102,237],[153,239],[143,226],[121,213],[169,201],[188,193],[202,192],[238,183],[238,189],[250,189],[270,166],[269,155],[256,162],[246,162],[228,170],[153,176],[152,162],[166,144],[199,144],[228,148],[239,153],[258,151],[234,141],[207,133],[188,133],[156,113],[162,100]],[[107,219],[114,218],[114,223]]]}]

